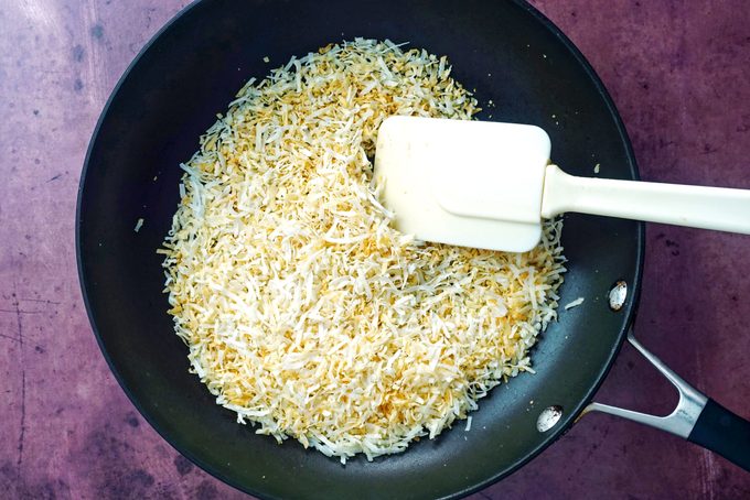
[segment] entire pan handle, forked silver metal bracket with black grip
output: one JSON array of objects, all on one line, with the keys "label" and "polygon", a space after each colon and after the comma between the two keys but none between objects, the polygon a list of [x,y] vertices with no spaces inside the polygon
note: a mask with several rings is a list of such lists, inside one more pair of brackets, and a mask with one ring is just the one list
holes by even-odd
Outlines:
[{"label": "entire pan handle, forked silver metal bracket with black grip", "polygon": [[750,421],[733,414],[685,382],[646,350],[632,331],[628,334],[628,340],[677,388],[677,407],[666,416],[656,416],[594,402],[586,406],[581,416],[589,412],[602,412],[656,427],[716,452],[750,471]]}]

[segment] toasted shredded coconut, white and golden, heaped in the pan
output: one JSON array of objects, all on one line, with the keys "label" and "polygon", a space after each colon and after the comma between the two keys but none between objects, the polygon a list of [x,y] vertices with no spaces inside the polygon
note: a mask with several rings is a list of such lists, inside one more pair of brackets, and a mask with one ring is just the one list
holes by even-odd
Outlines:
[{"label": "toasted shredded coconut, white and golden, heaped in the pan", "polygon": [[527,253],[425,243],[392,228],[371,181],[386,117],[478,111],[450,72],[389,41],[292,57],[182,165],[158,250],[170,314],[191,370],[257,433],[372,459],[531,371],[556,317],[561,222]]}]

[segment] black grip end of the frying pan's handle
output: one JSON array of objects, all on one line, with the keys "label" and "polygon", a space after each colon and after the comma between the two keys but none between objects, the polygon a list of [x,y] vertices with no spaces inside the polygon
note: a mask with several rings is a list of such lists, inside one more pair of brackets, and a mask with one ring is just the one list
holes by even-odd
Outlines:
[{"label": "black grip end of the frying pan's handle", "polygon": [[708,399],[687,441],[750,471],[750,422]]}]

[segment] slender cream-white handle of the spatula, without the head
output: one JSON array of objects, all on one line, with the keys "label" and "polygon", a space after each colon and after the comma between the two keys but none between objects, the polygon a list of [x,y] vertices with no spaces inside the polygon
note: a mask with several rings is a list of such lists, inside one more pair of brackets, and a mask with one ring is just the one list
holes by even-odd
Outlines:
[{"label": "slender cream-white handle of the spatula, without the head", "polygon": [[750,189],[577,177],[548,165],[542,217],[566,211],[750,235]]}]

